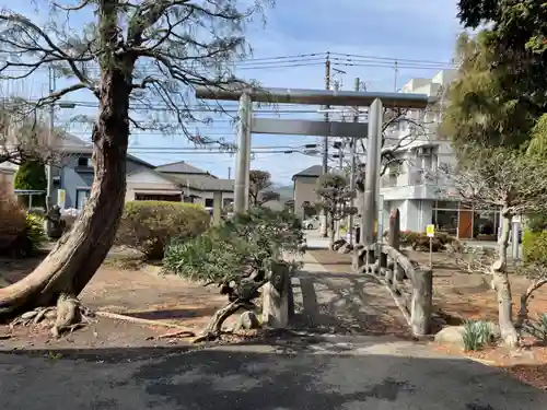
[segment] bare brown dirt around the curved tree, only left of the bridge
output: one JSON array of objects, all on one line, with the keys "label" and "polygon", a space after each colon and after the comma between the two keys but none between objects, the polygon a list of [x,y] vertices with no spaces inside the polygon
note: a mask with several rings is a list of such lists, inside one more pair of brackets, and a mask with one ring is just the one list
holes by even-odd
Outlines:
[{"label": "bare brown dirt around the curved tree, only left of the bridge", "polygon": [[[0,286],[26,276],[40,258],[0,259]],[[195,333],[205,327],[212,314],[226,303],[217,288],[205,288],[175,276],[161,274],[154,266],[120,269],[109,258],[80,295],[82,303],[94,311],[106,311],[133,318],[171,323]],[[127,263],[126,263],[127,265]],[[235,317],[226,321],[231,326]],[[0,325],[0,349],[136,347],[186,343],[190,339],[161,338],[175,331],[163,326],[139,325],[100,317],[97,323],[79,329],[60,340],[53,340],[45,328]]]}]

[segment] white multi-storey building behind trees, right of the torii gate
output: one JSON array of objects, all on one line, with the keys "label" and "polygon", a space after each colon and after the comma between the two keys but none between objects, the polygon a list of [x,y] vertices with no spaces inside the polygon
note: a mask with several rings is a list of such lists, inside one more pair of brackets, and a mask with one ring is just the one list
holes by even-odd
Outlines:
[{"label": "white multi-storey building behind trees, right of the torii gate", "polygon": [[[438,96],[441,101],[443,91],[455,75],[455,70],[443,70],[432,79],[411,79],[400,92]],[[396,151],[396,157],[403,161],[391,166],[381,181],[384,230],[389,223],[389,212],[398,208],[401,230],[423,232],[426,225],[434,224],[437,230],[459,238],[492,239],[499,226],[496,212],[473,210],[456,198],[446,198],[445,189],[428,177],[438,174],[440,164],[456,161],[450,142],[438,133],[441,109],[408,113],[407,116],[423,129],[404,121],[386,133],[386,145],[401,139],[405,142]]]}]

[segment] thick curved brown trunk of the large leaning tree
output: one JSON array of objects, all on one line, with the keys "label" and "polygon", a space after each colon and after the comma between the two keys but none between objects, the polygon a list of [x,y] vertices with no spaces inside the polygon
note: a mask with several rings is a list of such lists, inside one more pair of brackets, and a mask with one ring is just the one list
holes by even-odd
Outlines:
[{"label": "thick curved brown trunk of the large leaning tree", "polygon": [[119,69],[103,73],[92,133],[95,176],[85,209],[32,273],[0,289],[0,317],[55,306],[61,294],[77,296],[104,261],[124,210],[129,93]]}]

